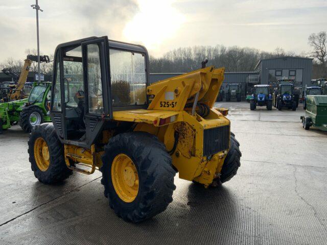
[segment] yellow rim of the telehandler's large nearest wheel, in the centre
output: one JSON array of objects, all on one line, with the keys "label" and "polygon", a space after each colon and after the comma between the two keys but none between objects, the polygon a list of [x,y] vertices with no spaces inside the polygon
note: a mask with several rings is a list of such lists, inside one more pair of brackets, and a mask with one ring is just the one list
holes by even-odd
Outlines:
[{"label": "yellow rim of the telehandler's large nearest wheel, in the centre", "polygon": [[127,155],[119,154],[113,159],[111,180],[121,200],[126,203],[135,200],[138,193],[138,174],[132,159]]}]

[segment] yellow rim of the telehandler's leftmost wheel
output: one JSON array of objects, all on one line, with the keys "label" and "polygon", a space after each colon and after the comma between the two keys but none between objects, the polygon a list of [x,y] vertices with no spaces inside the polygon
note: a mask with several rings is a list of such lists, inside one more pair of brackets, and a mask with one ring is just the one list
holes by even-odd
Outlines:
[{"label": "yellow rim of the telehandler's leftmost wheel", "polygon": [[46,171],[50,165],[49,147],[45,140],[41,137],[34,142],[34,158],[37,167],[41,171]]}]

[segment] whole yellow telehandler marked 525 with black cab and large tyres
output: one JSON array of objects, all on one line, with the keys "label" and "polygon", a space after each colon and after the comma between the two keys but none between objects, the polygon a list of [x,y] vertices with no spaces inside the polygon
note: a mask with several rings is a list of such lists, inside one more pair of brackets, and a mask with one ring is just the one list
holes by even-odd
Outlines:
[{"label": "whole yellow telehandler marked 525 with black cab and large tyres", "polygon": [[[54,57],[53,123],[36,126],[28,142],[40,182],[99,169],[109,206],[141,222],[172,202],[176,171],[205,187],[236,175],[239,142],[226,109],[213,108],[224,68],[148,86],[146,48],[106,36],[60,44]],[[74,90],[67,79],[73,72],[80,86]]]}]

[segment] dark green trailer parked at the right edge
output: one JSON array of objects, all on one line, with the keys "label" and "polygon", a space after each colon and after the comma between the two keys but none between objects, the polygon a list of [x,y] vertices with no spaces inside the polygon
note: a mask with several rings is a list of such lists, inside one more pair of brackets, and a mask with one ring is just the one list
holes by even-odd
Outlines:
[{"label": "dark green trailer parked at the right edge", "polygon": [[308,95],[306,115],[300,117],[304,129],[327,131],[327,95]]}]

